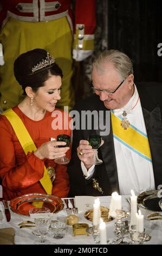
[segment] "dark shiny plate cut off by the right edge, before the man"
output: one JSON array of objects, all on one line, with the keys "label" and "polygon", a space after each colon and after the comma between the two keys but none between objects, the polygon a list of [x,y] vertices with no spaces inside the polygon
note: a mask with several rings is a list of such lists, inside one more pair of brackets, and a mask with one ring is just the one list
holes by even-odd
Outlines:
[{"label": "dark shiny plate cut off by the right edge, before the man", "polygon": [[137,197],[138,206],[147,210],[161,212],[159,207],[160,195],[160,190],[144,191]]}]

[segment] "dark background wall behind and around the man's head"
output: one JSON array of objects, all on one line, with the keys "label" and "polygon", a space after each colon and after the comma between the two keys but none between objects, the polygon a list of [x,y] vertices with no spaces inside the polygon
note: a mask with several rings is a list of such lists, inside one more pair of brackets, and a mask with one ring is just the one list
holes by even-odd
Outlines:
[{"label": "dark background wall behind and around the man's head", "polygon": [[[118,49],[132,60],[135,82],[162,82],[161,0],[96,0],[95,51],[77,63],[77,101],[92,94],[91,64],[105,49]],[[162,53],[162,51],[161,51]]]}]

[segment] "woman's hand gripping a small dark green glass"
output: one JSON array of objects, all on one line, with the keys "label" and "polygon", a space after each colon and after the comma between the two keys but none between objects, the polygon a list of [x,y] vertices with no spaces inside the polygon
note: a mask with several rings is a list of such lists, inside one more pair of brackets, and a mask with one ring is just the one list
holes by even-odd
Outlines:
[{"label": "woman's hand gripping a small dark green glass", "polygon": [[38,148],[34,155],[39,159],[56,159],[66,155],[69,147],[57,148],[57,146],[66,145],[66,142],[50,141],[43,143],[40,148]]}]

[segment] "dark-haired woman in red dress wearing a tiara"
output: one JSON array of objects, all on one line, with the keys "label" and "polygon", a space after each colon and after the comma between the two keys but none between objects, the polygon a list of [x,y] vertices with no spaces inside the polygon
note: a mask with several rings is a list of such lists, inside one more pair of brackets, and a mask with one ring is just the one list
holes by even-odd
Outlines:
[{"label": "dark-haired woman in red dress wearing a tiara", "polygon": [[35,49],[21,54],[15,60],[14,74],[26,96],[21,103],[12,108],[12,111],[21,119],[36,150],[29,150],[25,154],[15,129],[5,112],[2,113],[0,117],[0,178],[3,198],[10,200],[26,193],[47,193],[47,182],[44,182],[45,188],[40,182],[45,173],[44,166],[46,172],[49,168],[55,170],[55,175],[51,177],[52,186],[49,184],[50,193],[67,197],[69,191],[67,166],[56,164],[54,159],[65,154],[69,158],[70,148],[57,147],[65,145],[65,142],[50,141],[50,138],[56,139],[59,134],[71,136],[71,129],[67,125],[69,124],[68,114],[55,109],[57,101],[61,99],[62,70],[47,51]]}]

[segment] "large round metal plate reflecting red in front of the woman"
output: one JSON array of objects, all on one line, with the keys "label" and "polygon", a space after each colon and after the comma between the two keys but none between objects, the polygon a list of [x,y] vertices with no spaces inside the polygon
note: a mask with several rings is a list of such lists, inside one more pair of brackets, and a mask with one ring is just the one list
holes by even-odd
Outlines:
[{"label": "large round metal plate reflecting red in front of the woman", "polygon": [[23,194],[21,197],[16,197],[10,201],[10,208],[16,214],[29,216],[29,210],[35,206],[35,203],[41,203],[41,206],[47,207],[50,212],[63,209],[60,197],[42,193]]}]

